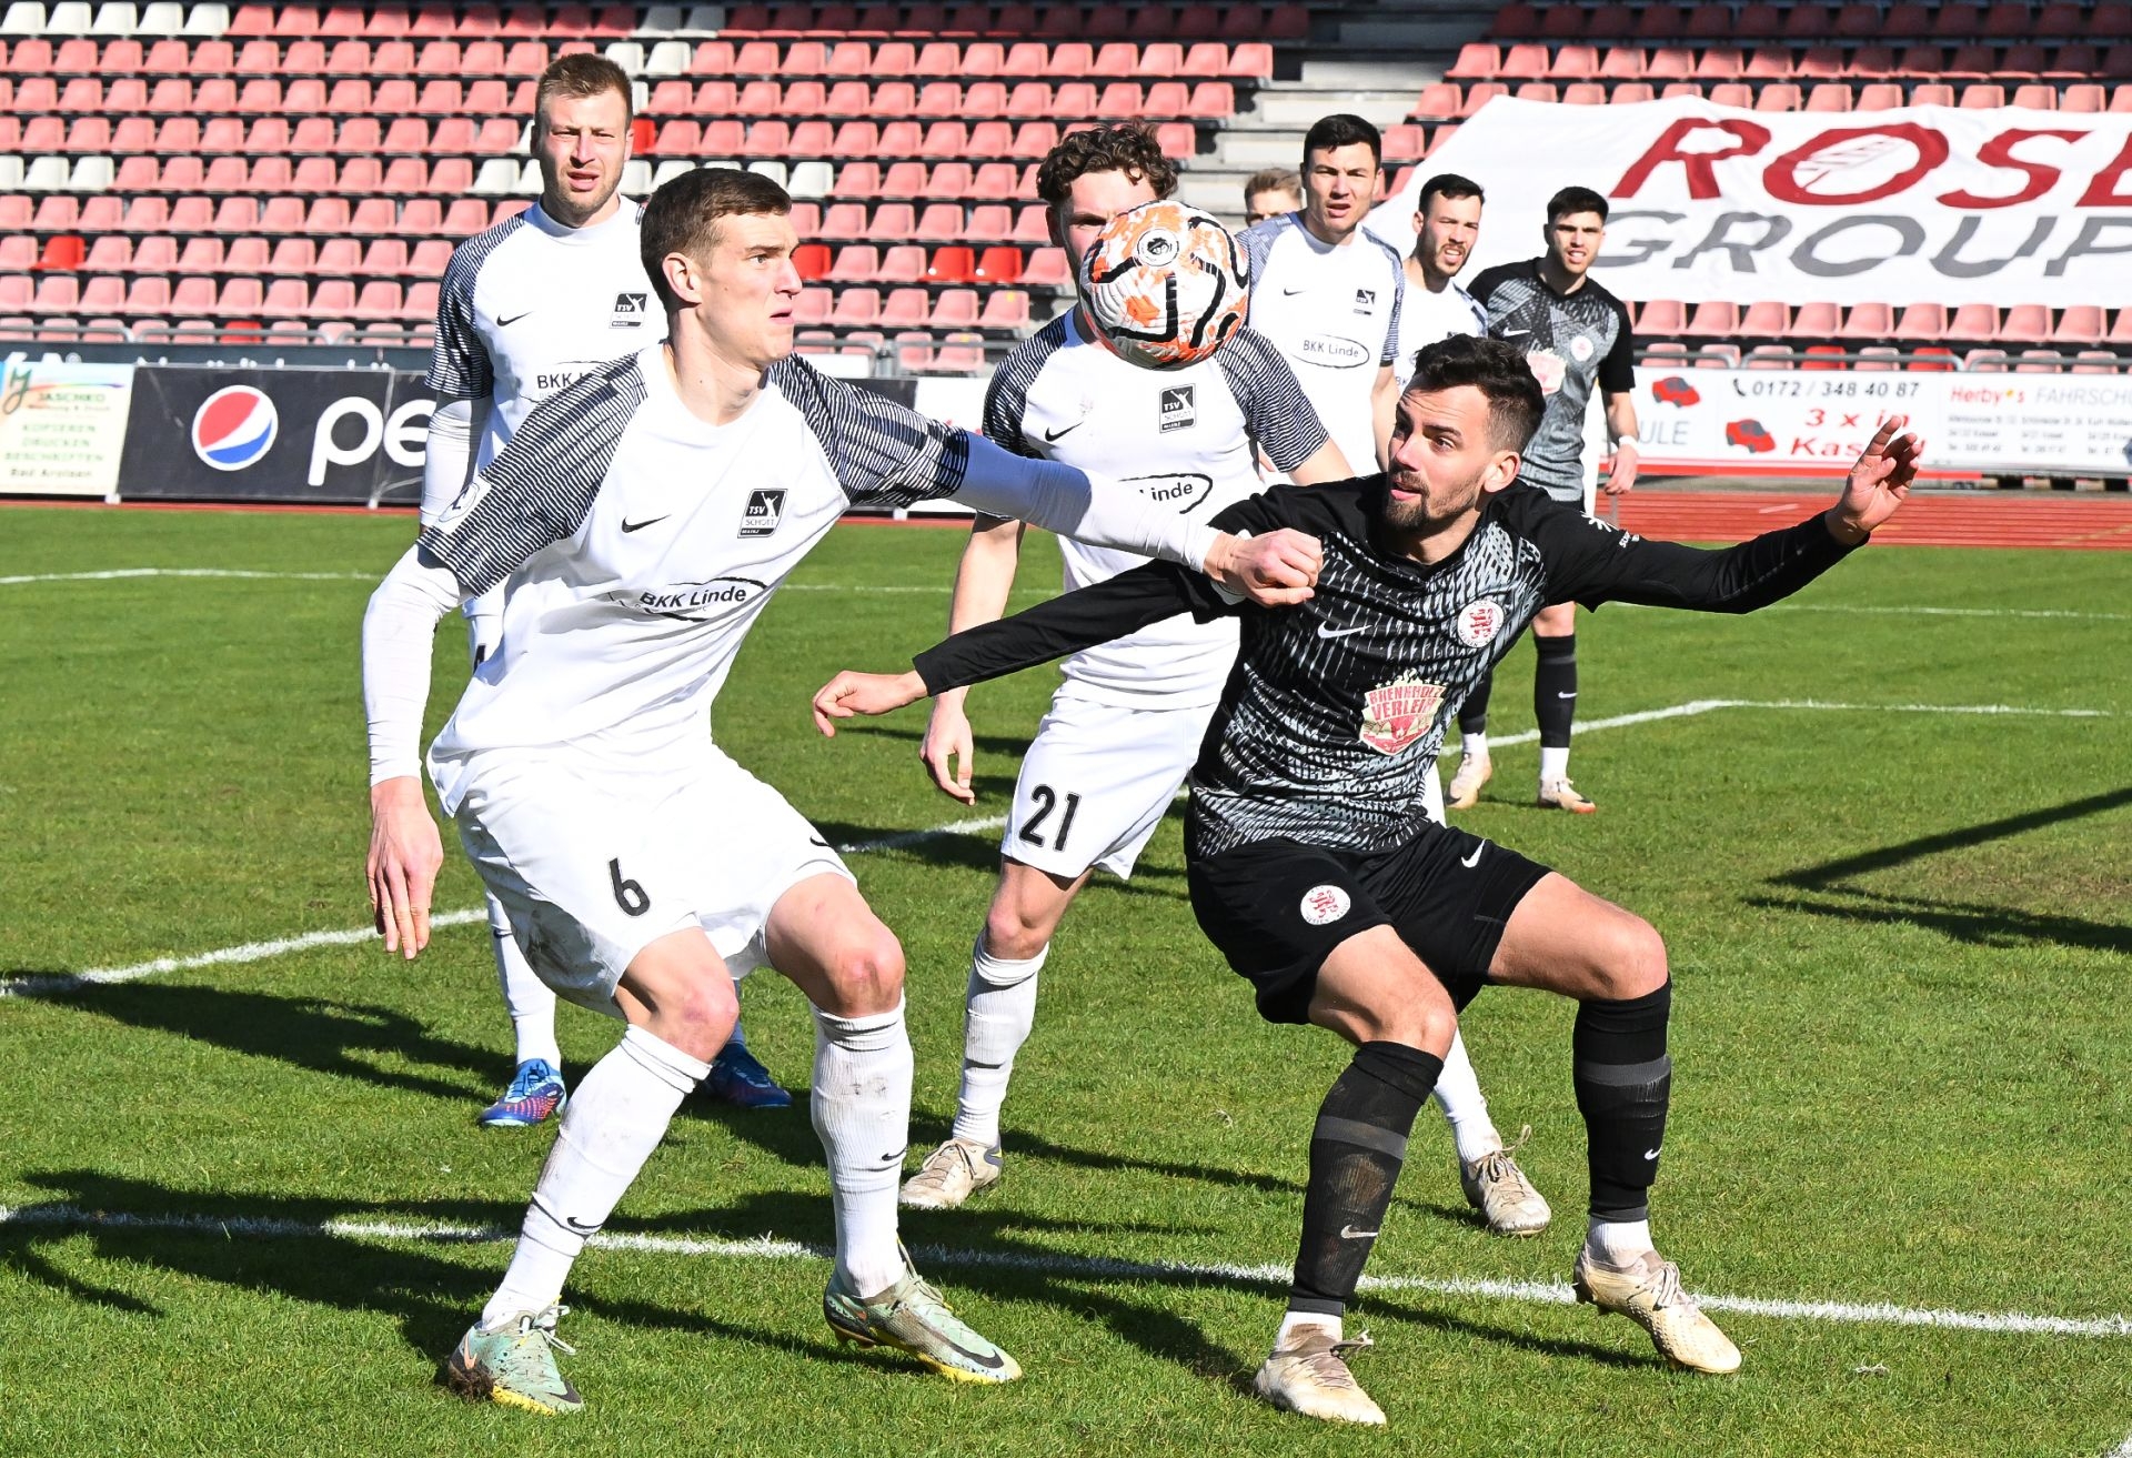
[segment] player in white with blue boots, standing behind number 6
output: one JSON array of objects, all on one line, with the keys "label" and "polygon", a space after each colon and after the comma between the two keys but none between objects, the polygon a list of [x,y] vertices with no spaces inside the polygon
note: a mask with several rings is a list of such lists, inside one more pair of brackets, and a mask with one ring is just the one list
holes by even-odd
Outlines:
[{"label": "player in white with blue boots, standing behind number 6", "polygon": [[[497,458],[527,411],[665,333],[637,249],[644,207],[620,196],[629,162],[627,72],[601,55],[563,55],[542,72],[533,96],[539,200],[461,243],[443,271],[429,362],[437,409],[422,467],[424,526],[478,467]],[[480,667],[503,631],[501,586],[467,603],[467,631]],[[533,976],[492,895],[488,934],[518,1049],[510,1087],[482,1111],[480,1123],[524,1128],[567,1098],[554,993]],[[791,1104],[791,1094],[748,1053],[738,1023],[733,1042],[712,1059],[706,1087],[746,1108]]]}]

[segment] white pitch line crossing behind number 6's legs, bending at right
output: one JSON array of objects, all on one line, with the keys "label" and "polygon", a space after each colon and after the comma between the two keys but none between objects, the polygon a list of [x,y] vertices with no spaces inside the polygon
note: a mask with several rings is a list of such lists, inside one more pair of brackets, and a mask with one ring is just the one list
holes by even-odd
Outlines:
[{"label": "white pitch line crossing behind number 6's legs, bending at right", "polygon": [[[2004,716],[2025,716],[2025,718],[2117,718],[2113,710],[2051,710],[2051,708],[2021,708],[2015,703],[1834,703],[1825,699],[1691,699],[1689,703],[1671,703],[1657,710],[1640,710],[1635,714],[1614,714],[1610,718],[1590,718],[1576,725],[1576,733],[1597,733],[1601,729],[1625,729],[1629,725],[1650,725],[1663,718],[1693,718],[1697,714],[1714,714],[1716,710],[1819,710],[1819,712],[1846,712],[1846,714],[2004,714]],[[1490,748],[1503,748],[1507,744],[1531,744],[1539,738],[1537,729],[1527,729],[1524,733],[1505,733],[1503,738],[1490,738]],[[1179,791],[1183,797],[1183,791]],[[874,855],[881,851],[910,851],[930,840],[940,840],[942,836],[985,836],[1006,825],[1004,814],[987,814],[970,821],[949,821],[944,825],[932,825],[927,829],[902,831],[895,836],[883,836],[878,840],[859,840],[846,846],[838,846],[838,855]],[[480,921],[482,910],[450,910],[437,912],[429,919],[433,927],[463,927],[467,923]],[[158,972],[190,972],[192,968],[211,968],[230,961],[264,961],[266,957],[281,957],[292,951],[307,951],[311,946],[345,946],[352,942],[367,942],[375,938],[377,932],[371,927],[354,927],[348,932],[305,932],[303,936],[284,938],[277,942],[245,942],[243,946],[222,946],[217,951],[196,953],[192,957],[156,957],[154,961],[136,961],[126,968],[92,968],[87,972],[60,972],[45,976],[19,976],[13,981],[0,981],[0,1000],[4,998],[38,998],[53,993],[79,991],[92,985],[107,983],[132,983],[143,976],[156,976]],[[2132,1458],[2132,1456],[2128,1456]]]}]

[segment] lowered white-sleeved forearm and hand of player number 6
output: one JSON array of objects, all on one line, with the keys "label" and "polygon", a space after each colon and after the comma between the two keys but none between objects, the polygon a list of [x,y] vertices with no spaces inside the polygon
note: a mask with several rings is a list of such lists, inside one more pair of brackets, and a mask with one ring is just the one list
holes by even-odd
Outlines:
[{"label": "lowered white-sleeved forearm and hand of player number 6", "polygon": [[422,565],[418,548],[392,565],[362,614],[362,708],[371,731],[371,851],[365,885],[386,951],[429,946],[429,904],[443,863],[422,797],[420,740],[437,620],[458,605],[458,578]]}]

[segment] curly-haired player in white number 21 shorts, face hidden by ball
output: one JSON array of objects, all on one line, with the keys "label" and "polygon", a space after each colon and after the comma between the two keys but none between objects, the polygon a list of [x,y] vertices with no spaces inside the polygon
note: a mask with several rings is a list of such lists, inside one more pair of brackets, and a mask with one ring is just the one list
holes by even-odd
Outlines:
[{"label": "curly-haired player in white number 21 shorts, face hidden by ball", "polygon": [[[1175,188],[1177,168],[1138,126],[1075,132],[1036,173],[1051,237],[1077,275],[1111,217]],[[1000,365],[985,392],[985,435],[1017,454],[1136,486],[1200,520],[1258,492],[1254,448],[1305,486],[1354,475],[1294,371],[1256,330],[1241,330],[1200,365],[1149,371],[1096,341],[1079,305]],[[1145,561],[1075,541],[1060,548],[1068,590]],[[1019,552],[1021,522],[979,518],[955,573],[949,631],[1004,612]],[[904,1181],[904,1204],[953,1209],[1000,1179],[1000,1108],[1036,1023],[1051,938],[1098,865],[1121,880],[1132,874],[1192,770],[1234,657],[1230,625],[1170,618],[1062,665],[1066,682],[1021,759],[1000,882],[970,949],[955,1125]],[[934,784],[974,804],[966,699],[966,691],[940,695],[921,755]],[[1490,1228],[1537,1234],[1548,1204],[1488,1121],[1465,1047],[1445,1062],[1443,1106],[1458,1134],[1467,1196]]]}]

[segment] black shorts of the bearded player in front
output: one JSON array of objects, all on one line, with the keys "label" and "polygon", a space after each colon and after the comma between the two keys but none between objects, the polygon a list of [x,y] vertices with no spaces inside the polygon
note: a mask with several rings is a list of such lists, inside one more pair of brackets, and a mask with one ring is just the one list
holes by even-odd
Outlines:
[{"label": "black shorts of the bearded player in front", "polygon": [[1188,865],[1200,932],[1251,981],[1269,1023],[1307,1023],[1332,949],[1384,925],[1465,1008],[1488,981],[1509,912],[1546,874],[1492,840],[1426,821],[1390,851],[1256,840]]}]

